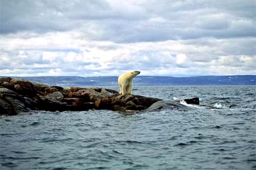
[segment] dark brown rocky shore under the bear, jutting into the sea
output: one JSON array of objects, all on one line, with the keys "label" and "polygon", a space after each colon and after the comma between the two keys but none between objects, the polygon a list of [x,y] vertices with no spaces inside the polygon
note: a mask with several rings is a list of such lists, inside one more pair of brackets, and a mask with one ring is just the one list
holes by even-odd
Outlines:
[{"label": "dark brown rocky shore under the bear, jutting into the sea", "polygon": [[[146,110],[158,98],[121,95],[105,88],[49,86],[19,78],[0,78],[0,115],[17,115],[31,110],[85,111],[113,110],[136,113]],[[199,98],[185,99],[199,105]],[[177,101],[172,101],[178,103]]]}]

